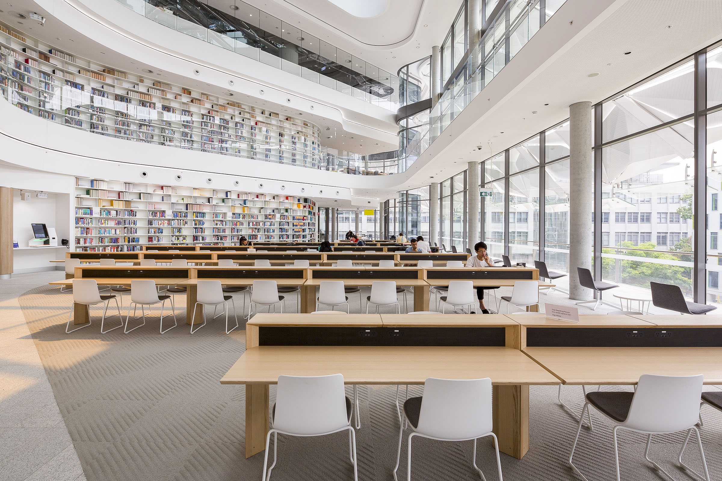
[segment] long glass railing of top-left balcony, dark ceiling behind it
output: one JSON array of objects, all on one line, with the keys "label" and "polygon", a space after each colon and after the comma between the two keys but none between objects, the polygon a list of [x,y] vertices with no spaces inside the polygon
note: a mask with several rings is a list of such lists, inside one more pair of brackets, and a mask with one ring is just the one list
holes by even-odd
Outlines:
[{"label": "long glass railing of top-left balcony, dark ceiling behind it", "polygon": [[206,43],[386,110],[396,112],[399,108],[398,76],[243,1],[235,0],[231,14],[197,0],[116,1],[160,25]]}]

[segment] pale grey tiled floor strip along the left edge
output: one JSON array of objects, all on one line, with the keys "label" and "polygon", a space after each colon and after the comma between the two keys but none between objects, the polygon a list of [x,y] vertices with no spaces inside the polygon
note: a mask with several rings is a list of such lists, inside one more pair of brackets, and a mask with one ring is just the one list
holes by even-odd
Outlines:
[{"label": "pale grey tiled floor strip along the left edge", "polygon": [[0,281],[0,477],[5,481],[84,481],[17,297],[64,277],[61,271]]}]

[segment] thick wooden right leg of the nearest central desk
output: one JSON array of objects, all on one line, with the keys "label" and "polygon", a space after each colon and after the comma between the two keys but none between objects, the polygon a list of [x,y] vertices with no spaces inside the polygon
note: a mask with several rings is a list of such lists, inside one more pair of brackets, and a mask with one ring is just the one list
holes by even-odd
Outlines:
[{"label": "thick wooden right leg of the nearest central desk", "polygon": [[494,386],[492,412],[499,451],[521,459],[529,451],[529,386]]}]

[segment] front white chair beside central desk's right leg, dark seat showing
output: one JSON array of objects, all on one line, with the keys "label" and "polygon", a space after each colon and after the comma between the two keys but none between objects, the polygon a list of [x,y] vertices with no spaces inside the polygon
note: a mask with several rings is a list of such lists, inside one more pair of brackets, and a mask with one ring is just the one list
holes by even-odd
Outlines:
[{"label": "front white chair beside central desk's right leg, dark seat showing", "polygon": [[[484,473],[477,467],[477,439],[491,436],[497,458],[499,481],[503,481],[499,459],[499,441],[492,433],[492,380],[485,379],[436,379],[428,378],[422,397],[411,397],[404,402],[404,419],[412,428],[409,434],[409,454],[406,479],[411,480],[411,441],[414,436],[437,441],[474,440],[471,465],[482,480]],[[396,453],[396,467],[393,479],[398,481],[396,471],[401,459],[401,441],[404,438],[404,423],[399,430],[399,451]]]}]

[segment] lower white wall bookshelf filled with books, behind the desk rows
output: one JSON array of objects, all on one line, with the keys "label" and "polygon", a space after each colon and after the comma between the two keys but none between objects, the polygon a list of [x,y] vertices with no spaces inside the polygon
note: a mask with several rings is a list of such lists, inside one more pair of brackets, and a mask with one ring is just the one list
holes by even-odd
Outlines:
[{"label": "lower white wall bookshelf filled with books, behind the desk rows", "polygon": [[316,241],[316,203],[293,195],[75,179],[75,250]]}]

